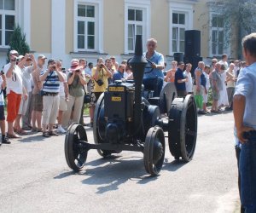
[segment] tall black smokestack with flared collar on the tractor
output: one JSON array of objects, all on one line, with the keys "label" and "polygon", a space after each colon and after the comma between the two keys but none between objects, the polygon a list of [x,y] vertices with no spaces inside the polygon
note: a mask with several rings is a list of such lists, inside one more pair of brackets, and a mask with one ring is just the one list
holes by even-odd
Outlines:
[{"label": "tall black smokestack with flared collar on the tractor", "polygon": [[143,38],[141,35],[137,35],[134,56],[128,61],[135,83],[134,124],[136,125],[134,125],[134,132],[140,130],[142,124],[142,84],[144,68],[147,63],[147,60],[143,56]]}]

